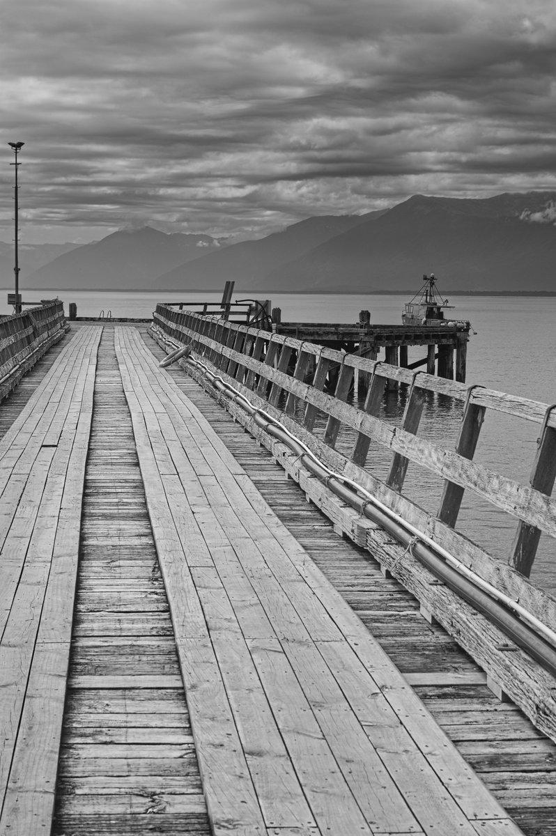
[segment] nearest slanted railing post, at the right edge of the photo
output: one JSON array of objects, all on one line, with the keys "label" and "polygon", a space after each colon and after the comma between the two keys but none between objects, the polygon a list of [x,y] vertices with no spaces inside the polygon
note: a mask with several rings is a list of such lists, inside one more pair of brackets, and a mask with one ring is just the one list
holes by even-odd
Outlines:
[{"label": "nearest slanted railing post, at the right edge of the photo", "polygon": [[[537,491],[550,496],[554,487],[556,477],[556,430],[553,427],[544,426],[538,440],[538,450],[533,462],[533,470],[529,480],[531,487]],[[533,525],[528,525],[520,520],[515,539],[513,541],[512,556],[510,565],[526,578],[531,574],[535,554],[537,553],[538,541],[541,531]]]}]

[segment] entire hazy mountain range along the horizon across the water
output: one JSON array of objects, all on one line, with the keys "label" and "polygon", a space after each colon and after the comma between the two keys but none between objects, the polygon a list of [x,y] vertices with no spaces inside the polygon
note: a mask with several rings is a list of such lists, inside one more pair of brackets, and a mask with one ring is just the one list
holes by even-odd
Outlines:
[{"label": "entire hazy mountain range along the horizon across the water", "polygon": [[[152,227],[74,247],[23,288],[241,292],[415,292],[435,273],[442,293],[556,292],[556,192],[485,199],[412,196],[380,212],[311,217],[257,241]],[[3,253],[0,270],[4,276]],[[8,274],[8,285],[13,278]]]}]

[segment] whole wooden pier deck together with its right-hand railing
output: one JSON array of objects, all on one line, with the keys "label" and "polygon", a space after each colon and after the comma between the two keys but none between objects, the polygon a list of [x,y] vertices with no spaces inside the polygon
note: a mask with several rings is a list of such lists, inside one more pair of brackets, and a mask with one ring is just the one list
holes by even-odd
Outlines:
[{"label": "whole wooden pier deck together with its right-hand railing", "polygon": [[[462,487],[487,492],[472,446],[494,395],[347,357],[330,395],[337,363],[159,306],[149,332],[72,324],[0,403],[2,836],[556,833],[548,650],[545,664],[509,638],[268,432],[279,416],[360,481],[380,436],[390,477],[365,485],[549,630],[556,602],[524,574],[553,527],[555,419],[528,404],[543,466],[520,493],[517,568],[495,565],[450,525]],[[355,367],[364,410],[344,400]],[[400,432],[373,415],[386,375],[413,384]],[[431,466],[406,438],[421,385],[467,415],[456,459],[433,465],[437,518],[401,492],[407,461]]]}]

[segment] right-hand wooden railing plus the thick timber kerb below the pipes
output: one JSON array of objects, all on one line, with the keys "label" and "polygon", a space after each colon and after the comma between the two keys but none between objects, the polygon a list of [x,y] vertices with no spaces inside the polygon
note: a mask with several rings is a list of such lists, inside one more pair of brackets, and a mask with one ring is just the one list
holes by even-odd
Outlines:
[{"label": "right-hand wooden railing plus the thick timber kerb below the pipes", "polygon": [[[556,537],[556,502],[550,497],[556,476],[556,408],[481,386],[467,387],[424,372],[343,354],[291,337],[249,329],[222,319],[179,312],[164,305],[157,306],[154,324],[178,342],[191,344],[203,362],[218,370],[223,379],[232,381],[253,405],[262,407],[281,421],[327,466],[360,484],[487,583],[518,600],[551,630],[556,630],[556,600],[528,580],[540,533]],[[366,375],[368,379],[362,407],[346,402],[356,375]],[[201,375],[193,376],[203,382]],[[333,391],[325,391],[326,385],[330,388],[331,381]],[[401,426],[391,426],[378,417],[389,385],[407,387]],[[455,449],[446,449],[417,435],[428,393],[444,395],[460,404],[462,422]],[[228,404],[227,408],[253,435],[266,443],[263,433],[242,415],[240,407]],[[487,410],[538,425],[538,450],[528,485],[503,477],[473,461]],[[315,435],[317,415],[321,422],[324,418],[325,426],[324,431]],[[350,428],[354,439],[347,455],[336,449],[342,426]],[[366,466],[372,442],[391,453],[385,481],[373,476]],[[410,462],[443,482],[436,514],[427,512],[403,495]],[[309,498],[320,507],[330,505],[323,486],[315,486],[318,480],[304,476],[293,459],[288,460],[287,469],[302,484]],[[465,491],[473,492],[517,520],[508,563],[493,558],[455,531]],[[539,670],[515,647],[513,650],[518,652],[506,652],[504,637],[494,627],[491,629],[488,624],[482,624],[477,633],[477,619],[473,622],[472,615],[464,618],[467,604],[457,598],[451,599],[449,592],[437,585],[433,589],[434,579],[431,580],[430,573],[417,565],[411,553],[400,555],[400,548],[395,547],[391,538],[378,532],[376,526],[365,523],[355,512],[342,509],[330,512],[329,507],[327,512],[329,516],[336,513],[337,520],[341,517],[344,522],[340,520],[339,528],[378,555],[383,568],[390,569],[416,594],[426,613],[457,636],[460,644],[487,670],[495,686],[510,694],[543,731],[556,737],[554,681],[547,671]],[[346,523],[346,519],[351,522]]]}]

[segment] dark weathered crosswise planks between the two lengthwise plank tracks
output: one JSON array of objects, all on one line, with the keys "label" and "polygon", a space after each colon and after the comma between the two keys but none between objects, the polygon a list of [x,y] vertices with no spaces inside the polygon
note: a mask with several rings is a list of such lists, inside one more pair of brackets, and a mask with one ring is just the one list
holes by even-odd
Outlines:
[{"label": "dark weathered crosswise planks between the two lengthwise plank tracks", "polygon": [[52,833],[207,836],[113,330],[99,347]]}]

